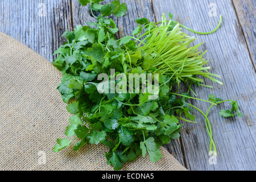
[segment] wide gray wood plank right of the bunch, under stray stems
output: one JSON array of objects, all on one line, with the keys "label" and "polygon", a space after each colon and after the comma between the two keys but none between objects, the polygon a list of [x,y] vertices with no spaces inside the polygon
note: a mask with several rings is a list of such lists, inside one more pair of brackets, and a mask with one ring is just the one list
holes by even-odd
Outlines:
[{"label": "wide gray wood plank right of the bunch, under stray stems", "polygon": [[[162,13],[174,14],[180,23],[196,31],[207,32],[218,24],[218,14],[222,14],[223,23],[212,35],[196,36],[196,43],[205,42],[201,50],[208,49],[205,58],[209,60],[212,72],[222,76],[224,86],[205,80],[205,84],[214,89],[194,88],[200,98],[208,99],[210,93],[223,99],[237,100],[241,106],[243,118],[222,118],[218,110],[229,108],[224,104],[214,107],[209,118],[212,121],[213,138],[217,145],[217,164],[209,164],[209,137],[205,129],[204,117],[196,111],[199,123],[184,123],[181,139],[184,147],[187,167],[192,170],[255,170],[255,71],[249,51],[238,23],[232,1],[226,0],[153,0],[156,19]],[[210,17],[209,5],[215,3],[217,16]],[[207,111],[209,105],[192,101],[193,105]]]}]

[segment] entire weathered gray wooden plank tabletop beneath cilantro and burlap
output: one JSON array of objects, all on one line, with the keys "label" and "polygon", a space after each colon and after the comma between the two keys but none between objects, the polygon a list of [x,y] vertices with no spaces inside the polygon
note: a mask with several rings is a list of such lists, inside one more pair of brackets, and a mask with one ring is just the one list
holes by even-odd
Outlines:
[{"label": "entire weathered gray wooden plank tabletop beneath cilantro and burlap", "polygon": [[[108,0],[109,2],[109,0]],[[204,118],[199,123],[184,123],[180,140],[167,146],[180,163],[191,170],[255,170],[255,6],[254,0],[125,0],[128,10],[124,18],[114,18],[119,27],[118,36],[130,34],[137,26],[135,19],[146,17],[159,21],[162,13],[174,14],[180,23],[197,31],[210,31],[222,14],[223,23],[212,35],[195,35],[196,43],[205,42],[212,72],[222,76],[224,86],[213,84],[214,89],[195,88],[201,98],[210,93],[221,98],[237,100],[243,118],[222,118],[220,107],[210,113],[213,138],[217,144],[217,164],[209,163],[209,138]],[[64,41],[65,30],[95,20],[88,7],[77,0],[1,0],[0,31],[12,36],[40,55],[52,61],[52,53]],[[188,32],[187,30],[184,30]],[[192,32],[188,32],[194,35]],[[1,61],[1,60],[0,60]],[[204,111],[208,104],[193,101]],[[221,106],[222,108],[228,105]]]}]

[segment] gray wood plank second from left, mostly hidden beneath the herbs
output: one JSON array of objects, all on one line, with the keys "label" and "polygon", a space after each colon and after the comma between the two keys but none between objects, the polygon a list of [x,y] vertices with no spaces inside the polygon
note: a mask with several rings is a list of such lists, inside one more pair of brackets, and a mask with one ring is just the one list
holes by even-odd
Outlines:
[{"label": "gray wood plank second from left, mostly hidden beneath the herbs", "polygon": [[[109,3],[111,1],[107,0],[105,2]],[[126,16],[124,16],[123,18],[112,17],[119,28],[119,32],[117,35],[118,38],[129,35],[131,34],[131,32],[133,32],[134,28],[137,27],[137,23],[135,22],[137,18],[146,17],[150,21],[155,22],[155,15],[154,11],[152,11],[152,3],[150,0],[125,0],[121,2],[125,2],[127,5]],[[88,6],[81,6],[78,1],[73,1],[72,7],[73,22],[75,26],[77,26],[78,24],[85,25],[87,22],[96,21],[96,19],[90,15]],[[183,154],[181,152],[179,141],[172,141],[169,146],[166,146],[166,148],[172,155],[175,156],[177,160],[179,160],[181,164],[184,165]]]}]

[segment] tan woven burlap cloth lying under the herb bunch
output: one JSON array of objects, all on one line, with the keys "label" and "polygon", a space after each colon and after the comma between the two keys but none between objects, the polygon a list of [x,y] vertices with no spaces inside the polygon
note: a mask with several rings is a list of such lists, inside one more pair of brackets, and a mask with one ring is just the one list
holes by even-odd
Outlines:
[{"label": "tan woven burlap cloth lying under the herb bunch", "polygon": [[[0,170],[113,170],[101,144],[52,152],[70,116],[56,89],[60,80],[61,73],[46,59],[0,33]],[[186,170],[161,150],[158,162],[141,156],[123,170]]]}]

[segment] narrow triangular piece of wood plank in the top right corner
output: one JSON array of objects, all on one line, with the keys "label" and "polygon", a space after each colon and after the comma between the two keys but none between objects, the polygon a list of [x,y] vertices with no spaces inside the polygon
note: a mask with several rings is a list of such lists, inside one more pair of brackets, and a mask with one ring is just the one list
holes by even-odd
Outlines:
[{"label": "narrow triangular piece of wood plank in the top right corner", "polygon": [[256,1],[232,0],[236,9],[238,20],[245,34],[246,43],[249,47],[251,59],[255,68],[256,60]]}]

